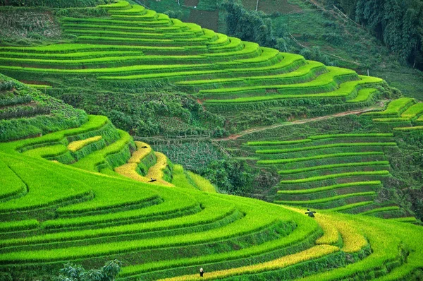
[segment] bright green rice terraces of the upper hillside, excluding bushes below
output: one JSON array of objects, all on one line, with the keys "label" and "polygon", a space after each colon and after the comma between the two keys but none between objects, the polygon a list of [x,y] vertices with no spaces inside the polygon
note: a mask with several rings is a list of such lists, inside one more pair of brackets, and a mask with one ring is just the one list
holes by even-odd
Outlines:
[{"label": "bright green rice terraces of the upper hillside, excluding bushes below", "polygon": [[385,91],[380,78],[242,42],[126,1],[97,8],[109,17],[60,18],[74,42],[0,47],[0,71],[25,83],[51,85],[54,95],[75,105],[85,97],[71,92],[84,86],[114,92],[171,87],[237,121],[240,109],[340,112],[373,104]]}]

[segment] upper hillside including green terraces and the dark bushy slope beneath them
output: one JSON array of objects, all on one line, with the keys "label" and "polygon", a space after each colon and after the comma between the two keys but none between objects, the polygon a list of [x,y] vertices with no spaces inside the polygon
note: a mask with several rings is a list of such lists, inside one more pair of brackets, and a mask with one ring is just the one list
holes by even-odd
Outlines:
[{"label": "upper hillside including green terraces and the dark bushy slope beneath them", "polygon": [[[0,71],[51,85],[51,95],[106,114],[137,136],[239,131],[364,107],[390,95],[380,78],[259,47],[126,1],[96,11],[55,12],[63,34],[74,39],[0,47]],[[362,88],[375,90],[360,93]]]}]

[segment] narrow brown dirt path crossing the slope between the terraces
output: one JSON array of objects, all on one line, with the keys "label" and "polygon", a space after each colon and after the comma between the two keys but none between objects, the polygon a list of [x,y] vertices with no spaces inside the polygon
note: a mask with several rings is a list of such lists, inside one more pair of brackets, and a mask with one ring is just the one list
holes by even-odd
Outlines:
[{"label": "narrow brown dirt path crossing the slope between the terraces", "polygon": [[362,108],[362,109],[357,109],[357,110],[351,110],[351,111],[348,111],[348,112],[339,112],[339,113],[336,113],[336,114],[319,116],[319,117],[314,117],[314,118],[309,118],[309,119],[300,119],[300,120],[296,120],[296,121],[292,121],[292,122],[286,122],[286,123],[283,123],[283,124],[275,124],[275,125],[259,127],[259,128],[249,128],[248,130],[242,131],[242,132],[237,133],[235,135],[228,136],[227,138],[219,138],[219,139],[216,139],[216,140],[217,141],[220,141],[220,140],[236,140],[237,138],[248,135],[250,133],[257,133],[259,131],[271,130],[273,128],[278,128],[278,127],[282,127],[282,126],[291,126],[291,125],[295,125],[295,124],[305,124],[305,123],[309,123],[309,122],[313,122],[313,121],[319,121],[319,120],[329,119],[329,118],[333,118],[333,117],[340,117],[340,116],[345,116],[345,115],[362,114],[364,112],[369,112],[369,111],[372,111],[374,109],[384,108],[385,103],[386,102],[380,102],[378,104],[378,106],[375,106],[375,107],[367,107],[367,108]]}]

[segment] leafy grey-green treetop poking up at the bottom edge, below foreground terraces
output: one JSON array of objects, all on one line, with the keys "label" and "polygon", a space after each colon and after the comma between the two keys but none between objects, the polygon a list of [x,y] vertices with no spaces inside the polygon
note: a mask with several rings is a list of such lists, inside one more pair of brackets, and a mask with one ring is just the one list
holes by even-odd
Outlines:
[{"label": "leafy grey-green treetop poking up at the bottom edge, below foreground terraces", "polygon": [[85,270],[82,265],[66,263],[60,270],[60,275],[55,281],[113,281],[121,272],[121,262],[113,260],[107,262],[102,268]]}]

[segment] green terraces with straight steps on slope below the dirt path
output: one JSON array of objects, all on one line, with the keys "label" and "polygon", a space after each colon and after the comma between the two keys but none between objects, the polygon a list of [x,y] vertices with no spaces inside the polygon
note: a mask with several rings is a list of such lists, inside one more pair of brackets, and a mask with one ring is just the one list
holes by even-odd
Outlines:
[{"label": "green terraces with straight steps on slope below the dirt path", "polygon": [[[331,128],[321,121],[324,129],[320,131],[345,127],[345,133],[309,135],[305,133],[307,126],[290,132],[286,124],[279,139],[271,136],[271,130],[262,135],[258,130],[252,138],[223,145],[253,167],[277,174],[276,186],[267,192],[267,200],[274,203],[384,218],[411,217],[410,210],[391,201],[395,196],[387,199],[384,193],[403,184],[395,184],[403,181],[401,173],[407,169],[398,164],[397,158],[405,157],[398,143],[404,145],[404,139],[419,138],[422,114],[422,103],[401,97],[380,111],[361,114],[353,124],[348,124],[351,119],[345,119],[344,126],[341,120],[333,121],[336,126]],[[367,127],[355,131],[360,126]],[[279,134],[276,130],[274,133]]]}]

